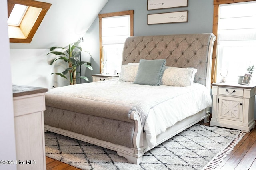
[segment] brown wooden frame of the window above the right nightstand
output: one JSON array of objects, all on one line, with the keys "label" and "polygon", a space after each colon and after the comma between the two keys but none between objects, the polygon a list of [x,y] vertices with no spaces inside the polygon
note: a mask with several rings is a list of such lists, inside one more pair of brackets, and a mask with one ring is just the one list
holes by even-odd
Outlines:
[{"label": "brown wooden frame of the window above the right nightstand", "polygon": [[214,41],[213,51],[212,51],[212,77],[211,83],[216,82],[217,76],[217,40],[218,40],[218,16],[219,16],[219,6],[221,4],[233,4],[238,2],[250,2],[255,0],[214,0],[213,1],[213,26],[212,33],[216,36],[216,40]]}]

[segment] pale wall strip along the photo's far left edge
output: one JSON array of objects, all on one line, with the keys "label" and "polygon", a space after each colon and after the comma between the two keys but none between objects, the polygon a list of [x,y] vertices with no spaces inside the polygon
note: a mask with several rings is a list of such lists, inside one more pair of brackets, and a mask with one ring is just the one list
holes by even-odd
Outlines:
[{"label": "pale wall strip along the photo's far left edge", "polygon": [[[0,1],[0,160],[16,160],[10,47],[7,29],[7,1]],[[16,164],[0,164],[1,170],[15,170]]]}]

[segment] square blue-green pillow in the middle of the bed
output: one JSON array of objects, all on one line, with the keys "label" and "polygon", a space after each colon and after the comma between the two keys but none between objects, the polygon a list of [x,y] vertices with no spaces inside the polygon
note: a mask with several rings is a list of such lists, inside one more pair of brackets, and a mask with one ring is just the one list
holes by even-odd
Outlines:
[{"label": "square blue-green pillow in the middle of the bed", "polygon": [[140,64],[134,83],[153,86],[160,85],[165,63],[165,59],[140,59]]}]

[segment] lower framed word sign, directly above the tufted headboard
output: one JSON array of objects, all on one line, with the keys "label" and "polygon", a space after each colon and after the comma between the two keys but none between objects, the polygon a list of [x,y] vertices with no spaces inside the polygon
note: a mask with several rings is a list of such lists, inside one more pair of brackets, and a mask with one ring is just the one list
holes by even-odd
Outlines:
[{"label": "lower framed word sign, directly above the tufted headboard", "polygon": [[188,22],[188,11],[148,14],[148,25],[175,22]]}]

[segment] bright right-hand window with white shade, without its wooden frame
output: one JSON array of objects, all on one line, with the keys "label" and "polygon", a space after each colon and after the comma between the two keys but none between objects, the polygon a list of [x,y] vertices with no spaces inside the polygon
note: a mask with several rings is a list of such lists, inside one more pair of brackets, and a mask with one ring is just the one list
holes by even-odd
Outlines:
[{"label": "bright right-hand window with white shade, without its wooden frame", "polygon": [[[256,65],[256,2],[219,6],[217,82],[226,77],[237,82],[239,75]],[[238,12],[239,11],[239,12]]]}]

